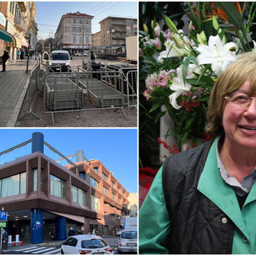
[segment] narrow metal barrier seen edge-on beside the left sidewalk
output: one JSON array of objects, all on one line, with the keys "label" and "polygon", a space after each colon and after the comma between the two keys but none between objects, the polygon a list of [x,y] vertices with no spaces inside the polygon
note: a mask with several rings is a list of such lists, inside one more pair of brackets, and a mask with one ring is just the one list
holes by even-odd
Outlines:
[{"label": "narrow metal barrier seen edge-on beside the left sidewalk", "polygon": [[[38,118],[36,114],[32,111],[32,106],[34,103],[35,95],[38,93],[38,80],[39,80],[39,70],[40,70],[40,60],[38,59],[36,62],[36,65],[34,66],[34,69],[30,71],[30,83],[29,83],[29,106],[28,106],[28,112],[25,114],[22,118],[18,118],[18,121],[25,118],[28,114],[33,114],[35,118]],[[40,118],[38,118],[40,119]]]}]

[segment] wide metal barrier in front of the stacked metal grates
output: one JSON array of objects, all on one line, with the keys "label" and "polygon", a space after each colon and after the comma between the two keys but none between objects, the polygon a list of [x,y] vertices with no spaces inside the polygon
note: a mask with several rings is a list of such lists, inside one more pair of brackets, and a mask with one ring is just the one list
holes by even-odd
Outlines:
[{"label": "wide metal barrier in front of the stacked metal grates", "polygon": [[[123,77],[117,71],[86,71],[78,67],[72,73],[48,73],[44,83],[44,113],[121,109],[125,106]],[[121,85],[121,90],[114,83]]]}]

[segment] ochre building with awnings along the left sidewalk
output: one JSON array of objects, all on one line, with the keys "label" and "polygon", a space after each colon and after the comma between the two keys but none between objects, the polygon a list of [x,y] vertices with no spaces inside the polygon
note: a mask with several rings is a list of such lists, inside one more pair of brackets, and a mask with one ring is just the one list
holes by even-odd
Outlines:
[{"label": "ochre building with awnings along the left sidewalk", "polygon": [[[0,55],[8,50],[10,61],[17,58],[18,49],[36,49],[38,24],[36,19],[35,2],[0,2],[0,16],[2,30],[10,35],[11,40],[0,41]],[[3,25],[4,24],[4,25]]]}]

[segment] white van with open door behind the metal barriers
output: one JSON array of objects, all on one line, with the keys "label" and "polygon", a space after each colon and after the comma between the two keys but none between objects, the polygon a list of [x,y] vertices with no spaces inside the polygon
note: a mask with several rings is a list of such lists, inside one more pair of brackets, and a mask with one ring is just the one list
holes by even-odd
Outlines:
[{"label": "white van with open door behind the metal barriers", "polygon": [[66,72],[68,67],[71,67],[71,59],[67,50],[53,50],[50,54],[47,52],[42,54],[42,65],[46,65],[49,61],[50,69],[54,72]]}]

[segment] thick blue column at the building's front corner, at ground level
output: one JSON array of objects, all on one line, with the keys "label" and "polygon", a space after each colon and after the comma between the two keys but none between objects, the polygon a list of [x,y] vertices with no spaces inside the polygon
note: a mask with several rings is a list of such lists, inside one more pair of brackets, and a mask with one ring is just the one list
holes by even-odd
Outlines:
[{"label": "thick blue column at the building's front corner, at ground level", "polygon": [[43,210],[31,209],[30,216],[30,242],[41,243],[43,242]]}]

